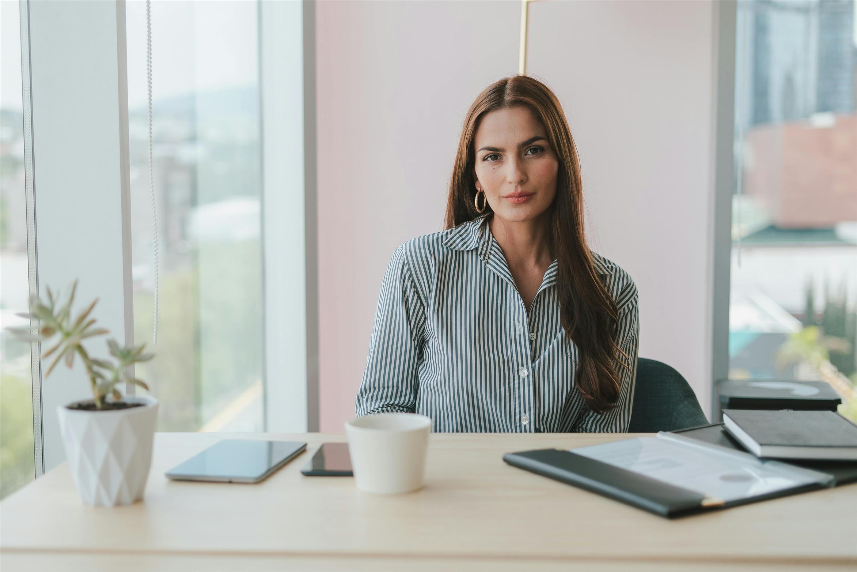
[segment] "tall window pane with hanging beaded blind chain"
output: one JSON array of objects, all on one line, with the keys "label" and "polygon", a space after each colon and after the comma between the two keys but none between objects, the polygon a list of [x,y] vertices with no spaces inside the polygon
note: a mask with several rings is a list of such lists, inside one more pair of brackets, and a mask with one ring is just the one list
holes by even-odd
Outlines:
[{"label": "tall window pane with hanging beaded blind chain", "polygon": [[152,3],[156,274],[146,3],[126,5],[135,343],[156,354],[138,377],[159,431],[261,431],[258,7]]}]

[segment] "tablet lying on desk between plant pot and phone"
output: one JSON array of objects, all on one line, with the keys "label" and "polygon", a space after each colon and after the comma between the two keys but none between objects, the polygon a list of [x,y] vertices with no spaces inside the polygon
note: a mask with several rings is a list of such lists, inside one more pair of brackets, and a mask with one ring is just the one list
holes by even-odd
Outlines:
[{"label": "tablet lying on desk between plant pot and phone", "polygon": [[297,441],[224,439],[171,468],[172,480],[258,483],[307,448]]}]

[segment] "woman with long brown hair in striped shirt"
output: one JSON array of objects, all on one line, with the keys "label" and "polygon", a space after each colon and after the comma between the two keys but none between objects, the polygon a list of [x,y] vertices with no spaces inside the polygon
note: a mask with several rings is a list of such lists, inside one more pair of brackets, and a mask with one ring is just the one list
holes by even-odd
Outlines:
[{"label": "woman with long brown hair in striped shirt", "polygon": [[624,432],[637,287],[584,235],[578,154],[540,81],[470,106],[446,230],[406,241],[381,285],[357,414],[416,412],[436,432]]}]

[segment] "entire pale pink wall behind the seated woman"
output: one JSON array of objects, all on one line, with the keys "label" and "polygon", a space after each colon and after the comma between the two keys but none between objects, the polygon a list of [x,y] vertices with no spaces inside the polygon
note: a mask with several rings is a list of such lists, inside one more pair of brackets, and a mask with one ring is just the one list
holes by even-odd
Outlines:
[{"label": "entire pale pink wall behind the seated woman", "polygon": [[[442,228],[464,113],[517,72],[519,26],[517,2],[316,4],[322,432],[354,415],[387,263]],[[641,355],[703,400],[712,33],[709,2],[530,7],[530,72],[578,138],[596,250],[640,287]]]}]

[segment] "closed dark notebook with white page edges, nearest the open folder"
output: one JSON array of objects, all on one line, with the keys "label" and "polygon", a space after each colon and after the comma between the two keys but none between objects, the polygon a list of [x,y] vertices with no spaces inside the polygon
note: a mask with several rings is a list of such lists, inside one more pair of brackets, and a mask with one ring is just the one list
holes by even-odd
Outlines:
[{"label": "closed dark notebook with white page edges, nearest the open folder", "polygon": [[723,425],[755,456],[857,461],[857,426],[832,411],[724,409]]}]

